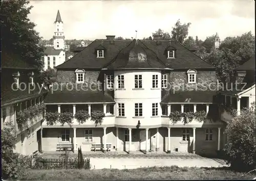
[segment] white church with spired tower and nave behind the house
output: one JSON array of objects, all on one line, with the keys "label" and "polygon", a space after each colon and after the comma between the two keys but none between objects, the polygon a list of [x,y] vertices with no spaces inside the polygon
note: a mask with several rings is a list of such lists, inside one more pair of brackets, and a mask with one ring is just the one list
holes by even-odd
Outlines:
[{"label": "white church with spired tower and nave behind the house", "polygon": [[44,70],[55,68],[65,62],[65,36],[63,33],[63,21],[61,20],[59,10],[54,21],[55,31],[53,35],[53,46],[47,46],[44,56]]}]

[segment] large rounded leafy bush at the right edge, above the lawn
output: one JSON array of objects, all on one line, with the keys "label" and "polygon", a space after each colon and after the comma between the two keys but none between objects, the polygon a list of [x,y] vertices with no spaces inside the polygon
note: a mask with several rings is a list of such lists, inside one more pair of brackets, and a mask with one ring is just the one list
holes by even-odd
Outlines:
[{"label": "large rounded leafy bush at the right edge, above the lawn", "polygon": [[251,170],[256,166],[256,124],[255,102],[243,116],[234,117],[227,125],[225,133],[229,138],[224,147],[231,168],[235,170]]}]

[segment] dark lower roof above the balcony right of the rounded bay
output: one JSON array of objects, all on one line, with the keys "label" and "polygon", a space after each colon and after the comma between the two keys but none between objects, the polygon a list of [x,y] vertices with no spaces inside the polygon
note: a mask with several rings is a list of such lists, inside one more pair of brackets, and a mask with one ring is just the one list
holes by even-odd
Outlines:
[{"label": "dark lower roof above the balcony right of the rounded bay", "polygon": [[162,102],[214,102],[216,91],[185,91],[168,94]]}]

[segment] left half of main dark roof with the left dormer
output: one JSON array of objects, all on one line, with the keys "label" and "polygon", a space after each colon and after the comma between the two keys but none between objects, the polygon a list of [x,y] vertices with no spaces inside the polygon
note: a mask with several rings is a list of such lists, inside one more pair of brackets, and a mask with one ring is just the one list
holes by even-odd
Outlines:
[{"label": "left half of main dark roof with the left dormer", "polygon": [[[86,47],[82,47],[82,51],[76,54],[72,59],[64,62],[55,68],[102,68],[105,64],[110,63],[113,58],[124,47],[131,43],[131,40],[115,40],[114,44],[110,40],[95,40]],[[104,46],[104,58],[97,58],[97,47]]]}]

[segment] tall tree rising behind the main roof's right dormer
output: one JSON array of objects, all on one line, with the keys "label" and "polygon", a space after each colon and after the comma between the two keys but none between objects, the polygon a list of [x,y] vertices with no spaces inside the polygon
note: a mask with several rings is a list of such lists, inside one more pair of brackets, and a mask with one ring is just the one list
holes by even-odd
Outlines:
[{"label": "tall tree rising behind the main roof's right dormer", "polygon": [[172,30],[172,39],[178,41],[183,44],[184,39],[188,35],[188,28],[190,26],[190,22],[181,24],[180,19],[175,23],[175,27]]}]

